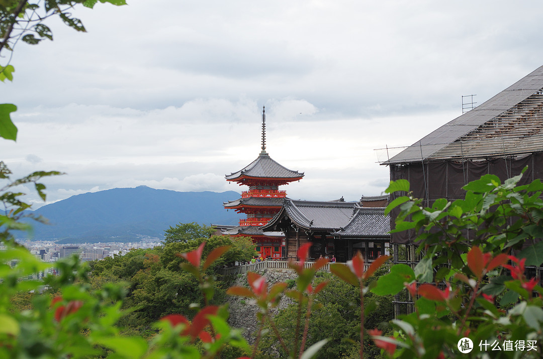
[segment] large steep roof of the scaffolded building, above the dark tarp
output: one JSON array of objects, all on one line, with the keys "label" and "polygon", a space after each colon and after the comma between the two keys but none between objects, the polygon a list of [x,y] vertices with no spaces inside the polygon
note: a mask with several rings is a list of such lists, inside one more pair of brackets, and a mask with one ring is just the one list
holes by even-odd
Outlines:
[{"label": "large steep roof of the scaffolded building, above the dark tarp", "polygon": [[382,164],[543,150],[543,66]]}]

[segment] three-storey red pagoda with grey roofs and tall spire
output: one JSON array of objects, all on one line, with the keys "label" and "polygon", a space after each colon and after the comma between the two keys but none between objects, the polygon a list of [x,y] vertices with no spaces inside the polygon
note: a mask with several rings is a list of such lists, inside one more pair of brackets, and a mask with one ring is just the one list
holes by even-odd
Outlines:
[{"label": "three-storey red pagoda with grey roofs and tall spire", "polygon": [[225,235],[250,236],[256,251],[262,258],[286,257],[285,236],[282,232],[266,232],[261,227],[281,210],[286,191],[279,186],[301,180],[303,172],[289,170],[275,162],[266,152],[266,108],[262,108],[262,151],[260,155],[243,169],[226,175],[226,181],[249,186],[241,198],[224,202],[224,208],[247,214],[247,219],[239,221],[239,226],[226,229]]}]

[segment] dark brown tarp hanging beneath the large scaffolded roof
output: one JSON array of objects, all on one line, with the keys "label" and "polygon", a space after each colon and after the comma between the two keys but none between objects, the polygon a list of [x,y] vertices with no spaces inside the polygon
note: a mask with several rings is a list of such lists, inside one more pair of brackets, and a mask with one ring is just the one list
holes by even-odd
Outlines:
[{"label": "dark brown tarp hanging beneath the large scaffolded roof", "polygon": [[[414,197],[424,198],[425,206],[431,206],[438,198],[447,198],[449,201],[464,198],[465,191],[462,187],[485,174],[496,175],[503,183],[507,178],[519,175],[525,166],[528,166],[528,170],[522,176],[519,185],[531,183],[536,178],[543,178],[543,152],[516,158],[464,162],[436,161],[424,163],[424,165],[421,162],[390,165],[390,180],[408,180]],[[401,195],[393,193],[390,201]],[[398,213],[399,209],[394,209],[391,218],[396,218]],[[394,220],[392,220],[391,228],[394,228]],[[392,243],[414,243],[414,232],[409,230],[393,233]]]}]

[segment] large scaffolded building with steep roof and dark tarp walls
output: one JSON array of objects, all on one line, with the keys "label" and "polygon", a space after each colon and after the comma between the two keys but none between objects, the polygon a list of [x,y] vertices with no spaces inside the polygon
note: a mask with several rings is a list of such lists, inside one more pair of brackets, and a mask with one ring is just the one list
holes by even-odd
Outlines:
[{"label": "large scaffolded building with steep roof and dark tarp walls", "polygon": [[[426,205],[464,198],[462,187],[485,174],[504,181],[528,166],[520,184],[543,178],[543,66],[381,164]],[[417,261],[413,241],[413,231],[392,235],[396,262],[399,251],[407,264]]]}]

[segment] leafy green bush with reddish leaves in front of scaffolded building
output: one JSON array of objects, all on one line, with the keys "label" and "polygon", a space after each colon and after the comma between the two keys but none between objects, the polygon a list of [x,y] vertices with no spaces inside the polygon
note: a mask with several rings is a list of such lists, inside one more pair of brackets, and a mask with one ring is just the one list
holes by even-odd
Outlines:
[{"label": "leafy green bush with reddish leaves in front of scaffolded building", "polygon": [[[540,357],[543,288],[539,279],[526,277],[525,265],[543,262],[543,184],[519,186],[521,177],[501,183],[485,175],[463,187],[465,199],[442,198],[432,207],[409,195],[389,205],[400,207],[395,230],[414,229],[424,257],[414,271],[393,266],[372,289],[396,294],[405,288],[414,299],[414,312],[393,320],[393,337],[373,332],[385,354],[478,358],[494,353],[484,343],[503,349],[506,341],[520,340],[534,341],[536,350],[502,350],[500,357]],[[387,191],[397,188],[393,182]],[[473,341],[469,354],[457,348],[462,337]]]}]

